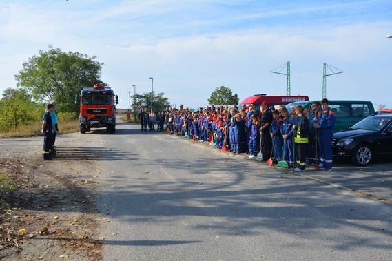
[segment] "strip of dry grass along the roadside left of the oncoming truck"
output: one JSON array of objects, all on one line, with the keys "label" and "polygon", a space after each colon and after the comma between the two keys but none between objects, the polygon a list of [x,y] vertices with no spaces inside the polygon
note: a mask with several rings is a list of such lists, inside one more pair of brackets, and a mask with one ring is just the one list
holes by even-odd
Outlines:
[{"label": "strip of dry grass along the roadside left of the oncoming truck", "polygon": [[[9,132],[0,132],[0,138],[31,137],[41,135],[42,123],[23,125]],[[79,119],[72,121],[59,121],[59,134],[79,132]]]}]

